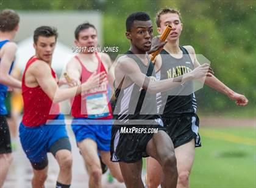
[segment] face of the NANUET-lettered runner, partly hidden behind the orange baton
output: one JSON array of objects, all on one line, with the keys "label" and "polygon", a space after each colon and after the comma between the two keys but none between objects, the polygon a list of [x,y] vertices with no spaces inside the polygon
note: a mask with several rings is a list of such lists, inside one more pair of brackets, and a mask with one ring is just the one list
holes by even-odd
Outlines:
[{"label": "face of the NANUET-lettered runner, partly hidden behind the orange baton", "polygon": [[182,23],[180,22],[179,15],[176,13],[166,13],[160,16],[160,28],[158,28],[159,33],[163,33],[166,25],[171,25],[172,30],[167,38],[168,41],[177,41],[182,32]]}]

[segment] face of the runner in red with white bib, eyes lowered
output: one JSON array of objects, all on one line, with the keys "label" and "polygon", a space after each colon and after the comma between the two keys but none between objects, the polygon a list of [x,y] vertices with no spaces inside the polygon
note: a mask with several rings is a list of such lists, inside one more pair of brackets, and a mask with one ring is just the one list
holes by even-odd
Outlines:
[{"label": "face of the runner in red with white bib, eyes lowered", "polygon": [[90,47],[96,47],[98,45],[98,36],[96,30],[92,27],[89,27],[88,29],[80,31],[78,40],[75,41],[75,44],[78,47],[86,47],[86,50],[82,50],[82,52],[88,53]]}]

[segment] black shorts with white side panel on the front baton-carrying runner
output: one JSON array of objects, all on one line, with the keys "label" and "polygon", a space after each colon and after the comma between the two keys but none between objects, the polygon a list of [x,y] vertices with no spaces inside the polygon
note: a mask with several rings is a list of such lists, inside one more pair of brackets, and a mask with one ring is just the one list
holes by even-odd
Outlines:
[{"label": "black shorts with white side panel on the front baton-carrying runner", "polygon": [[[112,126],[110,146],[111,161],[135,163],[141,158],[149,156],[146,153],[146,147],[155,133],[154,129],[149,128],[156,128],[157,131],[165,131],[165,127],[161,124],[129,126],[114,124]],[[129,133],[131,129],[134,129],[133,133]],[[126,130],[126,133],[122,133],[122,130]]]}]

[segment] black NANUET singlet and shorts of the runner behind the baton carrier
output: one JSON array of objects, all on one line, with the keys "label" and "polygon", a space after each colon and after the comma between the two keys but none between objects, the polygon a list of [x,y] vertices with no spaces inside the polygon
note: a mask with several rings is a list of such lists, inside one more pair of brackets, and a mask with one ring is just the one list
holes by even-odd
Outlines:
[{"label": "black NANUET singlet and shorts of the runner behind the baton carrier", "polygon": [[[171,56],[166,50],[160,52],[162,67],[157,72],[158,78],[168,79],[181,76],[194,69],[190,55],[184,47],[182,58]],[[162,92],[158,101],[162,101],[159,113],[162,116],[166,132],[171,137],[174,147],[188,143],[195,139],[196,147],[201,146],[198,133],[199,118],[196,115],[197,103],[193,92],[193,82],[188,81],[174,89]],[[166,101],[166,104],[165,104]]]}]

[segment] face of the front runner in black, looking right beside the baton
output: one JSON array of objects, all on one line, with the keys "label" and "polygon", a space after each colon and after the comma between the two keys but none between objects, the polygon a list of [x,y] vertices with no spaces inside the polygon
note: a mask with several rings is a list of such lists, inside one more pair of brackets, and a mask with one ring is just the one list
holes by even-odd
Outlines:
[{"label": "face of the front runner in black, looking right beside the baton", "polygon": [[153,38],[153,26],[151,20],[134,21],[130,32],[126,32],[126,37],[130,39],[132,45],[141,52],[147,52],[151,49],[151,40]]}]

